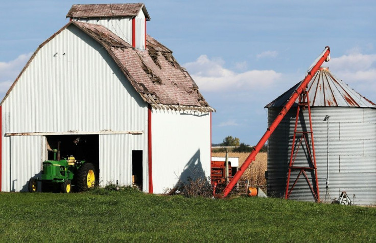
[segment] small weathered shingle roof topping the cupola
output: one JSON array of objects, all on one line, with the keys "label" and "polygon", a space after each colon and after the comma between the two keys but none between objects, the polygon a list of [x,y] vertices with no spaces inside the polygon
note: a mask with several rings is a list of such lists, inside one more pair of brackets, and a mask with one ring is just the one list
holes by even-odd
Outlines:
[{"label": "small weathered shingle roof topping the cupola", "polygon": [[145,5],[138,4],[75,4],[72,5],[66,17],[70,18],[103,18],[103,17],[135,17],[143,10],[147,20],[150,20]]}]

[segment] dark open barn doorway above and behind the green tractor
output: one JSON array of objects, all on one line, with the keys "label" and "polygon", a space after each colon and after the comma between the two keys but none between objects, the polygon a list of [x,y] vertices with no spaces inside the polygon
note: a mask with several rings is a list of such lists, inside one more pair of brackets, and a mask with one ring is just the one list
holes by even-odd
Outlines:
[{"label": "dark open barn doorway above and behind the green tractor", "polygon": [[85,160],[95,166],[96,178],[99,171],[99,135],[49,135],[46,137],[47,160],[54,159],[52,149],[58,148],[60,141],[60,157],[74,156],[76,160]]}]

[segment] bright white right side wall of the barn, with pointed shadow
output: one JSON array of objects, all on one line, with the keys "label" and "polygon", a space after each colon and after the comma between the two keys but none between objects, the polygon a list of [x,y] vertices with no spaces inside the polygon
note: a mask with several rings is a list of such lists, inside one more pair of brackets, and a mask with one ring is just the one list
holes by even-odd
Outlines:
[{"label": "bright white right side wall of the barn, with pointed shadow", "polygon": [[210,174],[210,114],[152,110],[153,192]]}]

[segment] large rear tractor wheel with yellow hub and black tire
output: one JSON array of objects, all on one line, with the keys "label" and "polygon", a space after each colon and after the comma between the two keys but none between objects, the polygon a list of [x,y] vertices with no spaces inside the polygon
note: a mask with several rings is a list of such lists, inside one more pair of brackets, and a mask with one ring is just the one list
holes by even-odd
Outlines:
[{"label": "large rear tractor wheel with yellow hub and black tire", "polygon": [[91,163],[84,163],[77,172],[77,191],[88,190],[96,184],[96,168]]}]

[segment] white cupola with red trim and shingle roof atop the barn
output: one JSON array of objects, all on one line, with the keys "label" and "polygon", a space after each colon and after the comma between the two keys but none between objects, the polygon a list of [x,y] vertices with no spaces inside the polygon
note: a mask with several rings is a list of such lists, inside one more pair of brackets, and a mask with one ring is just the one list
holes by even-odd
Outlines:
[{"label": "white cupola with red trim and shingle roof atop the barn", "polygon": [[102,25],[137,49],[146,48],[146,21],[150,16],[142,3],[73,5],[66,15],[71,21]]}]

